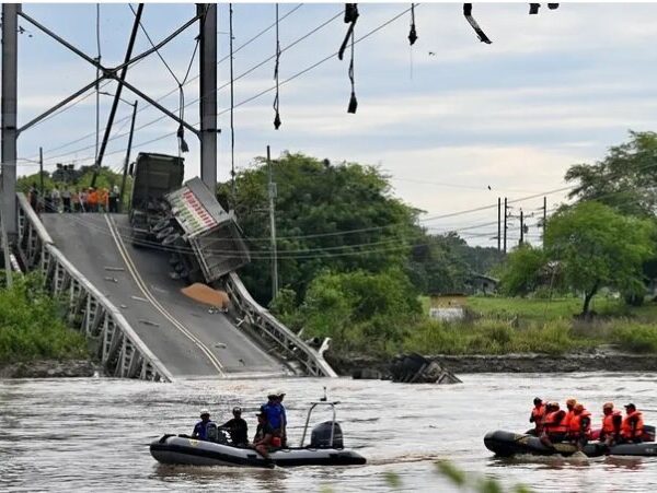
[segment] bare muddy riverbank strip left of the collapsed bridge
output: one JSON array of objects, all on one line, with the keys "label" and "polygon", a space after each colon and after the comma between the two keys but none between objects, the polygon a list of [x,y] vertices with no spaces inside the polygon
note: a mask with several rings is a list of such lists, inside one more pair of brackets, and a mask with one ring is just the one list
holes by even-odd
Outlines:
[{"label": "bare muddy riverbank strip left of the collapsed bridge", "polygon": [[102,374],[102,368],[88,360],[38,360],[0,364],[0,378],[76,378]]}]

